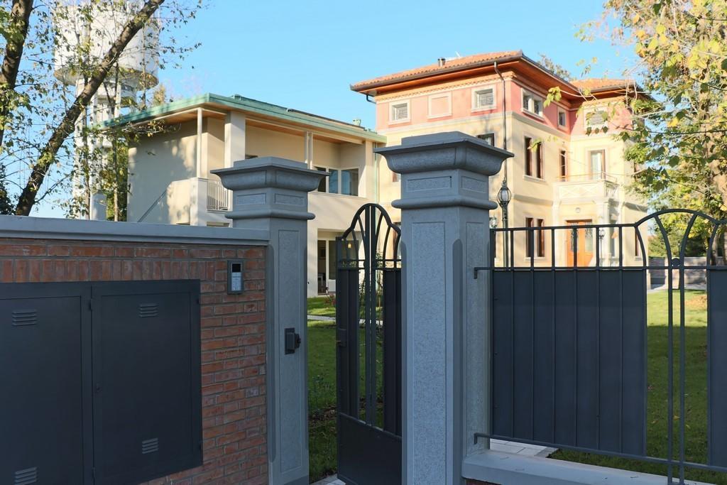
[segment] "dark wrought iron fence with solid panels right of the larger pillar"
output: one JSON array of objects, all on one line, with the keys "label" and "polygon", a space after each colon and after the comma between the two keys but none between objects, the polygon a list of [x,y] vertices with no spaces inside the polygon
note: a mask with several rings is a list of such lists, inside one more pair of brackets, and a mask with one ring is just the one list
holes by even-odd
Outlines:
[{"label": "dark wrought iron fence with solid panels right of the larger pillar", "polygon": [[[683,228],[676,240],[664,223],[674,218]],[[687,265],[695,225],[708,236],[705,263]],[[491,276],[492,420],[475,441],[654,462],[665,465],[670,484],[683,484],[687,468],[727,472],[727,266],[717,264],[724,258],[715,244],[726,225],[667,209],[635,223],[491,230],[490,265],[475,268],[474,277]],[[662,265],[648,260],[649,237],[664,244]],[[648,389],[663,384],[647,377],[649,270],[667,274],[665,456],[647,449]],[[704,462],[688,460],[686,450],[687,271],[704,271],[707,281]]]}]

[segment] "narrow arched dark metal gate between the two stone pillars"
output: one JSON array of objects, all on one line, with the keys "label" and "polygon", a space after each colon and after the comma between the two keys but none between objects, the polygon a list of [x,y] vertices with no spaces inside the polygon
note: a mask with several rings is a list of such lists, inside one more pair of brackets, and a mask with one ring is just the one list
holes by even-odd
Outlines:
[{"label": "narrow arched dark metal gate between the two stone pillars", "polygon": [[347,484],[401,484],[399,236],[381,206],[366,204],[337,239],[338,477]]}]

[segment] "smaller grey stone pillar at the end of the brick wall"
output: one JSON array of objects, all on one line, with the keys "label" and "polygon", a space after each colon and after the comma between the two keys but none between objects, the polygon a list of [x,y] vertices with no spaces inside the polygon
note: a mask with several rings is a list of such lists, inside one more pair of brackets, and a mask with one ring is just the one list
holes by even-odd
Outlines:
[{"label": "smaller grey stone pillar at the end of the brick wall", "polygon": [[[268,465],[270,484],[308,485],[306,262],[308,192],[324,172],[263,157],[215,170],[233,191],[235,228],[270,231],[268,246]],[[286,329],[300,347],[286,353]],[[292,329],[292,330],[290,330]],[[295,345],[294,345],[295,347]],[[291,351],[292,350],[292,351]]]}]

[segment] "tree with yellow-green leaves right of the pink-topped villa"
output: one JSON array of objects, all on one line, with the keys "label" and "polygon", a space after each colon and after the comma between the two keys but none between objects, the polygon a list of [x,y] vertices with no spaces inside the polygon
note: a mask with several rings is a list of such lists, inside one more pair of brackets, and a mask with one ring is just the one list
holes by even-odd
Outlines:
[{"label": "tree with yellow-green leaves right of the pink-topped villa", "polygon": [[608,0],[604,18],[634,49],[630,74],[643,92],[628,100],[633,123],[619,137],[640,170],[635,191],[655,207],[727,216],[727,2]]}]

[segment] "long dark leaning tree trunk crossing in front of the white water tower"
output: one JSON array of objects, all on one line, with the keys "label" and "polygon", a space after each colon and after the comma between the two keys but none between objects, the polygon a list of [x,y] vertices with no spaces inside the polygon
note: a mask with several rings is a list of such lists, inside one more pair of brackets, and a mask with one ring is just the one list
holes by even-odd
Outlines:
[{"label": "long dark leaning tree trunk crossing in front of the white water tower", "polygon": [[79,119],[81,112],[87,107],[93,95],[96,94],[98,88],[101,86],[104,79],[106,79],[106,76],[108,76],[113,65],[117,60],[119,60],[119,56],[122,52],[124,52],[129,41],[134,38],[134,36],[148,22],[154,12],[156,12],[156,9],[158,9],[163,3],[164,0],[146,0],[144,7],[142,7],[136,15],[134,15],[132,20],[129,20],[129,22],[126,23],[124,30],[121,31],[119,37],[108,49],[108,52],[106,52],[106,55],[103,57],[100,65],[95,69],[95,71],[93,71],[92,75],[89,77],[88,84],[84,86],[81,94],[73,101],[71,108],[68,108],[68,111],[65,112],[63,120],[61,120],[58,126],[53,130],[53,133],[41,151],[38,160],[33,164],[31,175],[28,177],[28,182],[25,183],[25,188],[23,188],[23,192],[20,193],[20,199],[17,201],[17,206],[15,207],[16,215],[30,215],[31,209],[33,209],[33,205],[36,203],[38,191],[40,190],[49,169],[52,167],[55,157],[60,150],[60,147],[63,145],[63,142],[68,135],[73,133],[73,127],[76,124],[76,120]]}]

